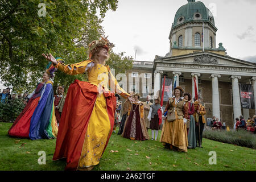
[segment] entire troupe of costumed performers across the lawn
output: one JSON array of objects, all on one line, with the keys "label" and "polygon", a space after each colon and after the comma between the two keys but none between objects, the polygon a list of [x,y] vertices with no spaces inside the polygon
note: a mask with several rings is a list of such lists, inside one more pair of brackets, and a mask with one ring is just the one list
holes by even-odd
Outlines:
[{"label": "entire troupe of costumed performers across the lawn", "polygon": [[[57,138],[53,160],[66,158],[67,170],[91,170],[100,163],[118,125],[117,134],[130,140],[158,140],[161,129],[159,142],[168,150],[203,148],[203,98],[192,98],[176,86],[165,109],[159,96],[152,98],[154,102],[150,96],[146,102],[139,101],[140,95],[123,90],[106,65],[112,46],[106,38],[95,40],[89,44],[88,60],[68,65],[60,57],[42,54],[51,66],[47,65],[33,93],[18,96],[26,96],[26,106],[8,134],[32,140]],[[56,70],[67,75],[88,73],[88,81],[75,80],[66,97],[59,86],[54,96],[50,79]],[[119,96],[125,98],[123,109]],[[3,100],[5,97],[9,96],[5,94]]]}]

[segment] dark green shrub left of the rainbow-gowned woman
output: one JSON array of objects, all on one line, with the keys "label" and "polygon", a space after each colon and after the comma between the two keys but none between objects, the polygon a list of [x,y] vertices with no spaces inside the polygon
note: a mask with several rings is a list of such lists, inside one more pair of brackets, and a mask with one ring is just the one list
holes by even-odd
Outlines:
[{"label": "dark green shrub left of the rainbow-gowned woman", "polygon": [[0,103],[0,122],[14,122],[24,107],[23,100],[18,98],[10,104]]}]

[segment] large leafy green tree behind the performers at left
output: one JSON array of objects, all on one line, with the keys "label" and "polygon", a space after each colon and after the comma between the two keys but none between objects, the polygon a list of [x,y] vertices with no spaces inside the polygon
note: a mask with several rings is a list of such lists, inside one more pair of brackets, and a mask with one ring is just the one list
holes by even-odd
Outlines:
[{"label": "large leafy green tree behind the performers at left", "polygon": [[[117,9],[117,0],[2,0],[0,2],[0,78],[16,92],[31,92],[42,79],[47,61],[41,55],[51,52],[65,64],[88,58],[88,44],[104,36],[101,23],[106,11]],[[97,15],[100,11],[100,17]],[[125,71],[131,57],[111,53],[109,65]],[[55,88],[65,88],[85,75],[67,76],[56,72]],[[65,89],[67,90],[67,89]]]}]

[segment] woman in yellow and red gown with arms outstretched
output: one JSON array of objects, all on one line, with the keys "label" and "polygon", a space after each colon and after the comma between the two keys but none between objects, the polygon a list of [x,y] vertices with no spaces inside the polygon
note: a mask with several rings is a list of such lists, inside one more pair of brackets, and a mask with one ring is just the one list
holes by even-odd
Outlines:
[{"label": "woman in yellow and red gown with arms outstretched", "polygon": [[67,75],[88,73],[88,82],[75,80],[69,86],[61,114],[53,160],[66,158],[66,170],[91,170],[100,163],[114,127],[115,93],[134,101],[106,65],[111,47],[106,38],[94,40],[88,60],[68,65],[42,54]]}]

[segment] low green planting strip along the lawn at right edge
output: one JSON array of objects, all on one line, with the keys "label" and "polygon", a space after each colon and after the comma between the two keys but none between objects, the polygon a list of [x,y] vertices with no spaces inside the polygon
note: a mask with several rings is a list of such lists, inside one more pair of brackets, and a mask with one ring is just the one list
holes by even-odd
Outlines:
[{"label": "low green planting strip along the lawn at right edge", "polygon": [[256,135],[245,130],[205,130],[203,137],[218,142],[237,144],[242,147],[256,148]]}]

